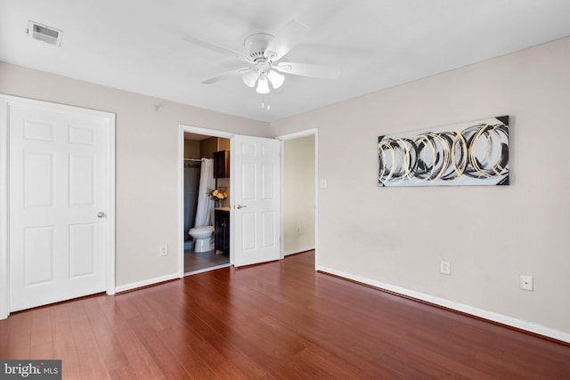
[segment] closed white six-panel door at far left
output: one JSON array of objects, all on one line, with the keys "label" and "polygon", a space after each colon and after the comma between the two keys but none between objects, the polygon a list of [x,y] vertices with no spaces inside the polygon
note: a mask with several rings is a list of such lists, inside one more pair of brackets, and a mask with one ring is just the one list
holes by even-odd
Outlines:
[{"label": "closed white six-panel door at far left", "polygon": [[18,102],[8,117],[10,311],[106,290],[109,119]]}]

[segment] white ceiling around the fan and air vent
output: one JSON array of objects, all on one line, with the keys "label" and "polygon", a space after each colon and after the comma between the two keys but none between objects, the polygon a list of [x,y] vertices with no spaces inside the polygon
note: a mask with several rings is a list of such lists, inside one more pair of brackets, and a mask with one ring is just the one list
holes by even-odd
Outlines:
[{"label": "white ceiling around the fan and air vent", "polygon": [[[0,0],[0,61],[272,121],[570,36],[569,16],[568,0]],[[200,84],[244,64],[183,36],[242,51],[292,19],[311,29],[283,61],[338,79],[288,75],[271,110],[240,77]],[[61,47],[28,20],[63,30]]]}]

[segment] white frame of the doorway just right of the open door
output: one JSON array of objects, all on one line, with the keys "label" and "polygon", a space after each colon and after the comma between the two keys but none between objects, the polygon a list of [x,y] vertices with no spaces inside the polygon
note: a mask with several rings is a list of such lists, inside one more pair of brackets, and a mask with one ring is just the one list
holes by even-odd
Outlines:
[{"label": "white frame of the doorway just right of the open door", "polygon": [[[277,136],[277,140],[281,140],[281,195],[284,194],[284,183],[285,180],[283,175],[284,170],[284,154],[285,154],[285,141],[294,140],[305,136],[314,135],[314,264],[319,263],[319,128],[307,129],[305,131],[299,131],[296,133],[283,134]],[[283,253],[285,252],[285,217],[283,198],[281,196],[281,259],[283,258]]]}]

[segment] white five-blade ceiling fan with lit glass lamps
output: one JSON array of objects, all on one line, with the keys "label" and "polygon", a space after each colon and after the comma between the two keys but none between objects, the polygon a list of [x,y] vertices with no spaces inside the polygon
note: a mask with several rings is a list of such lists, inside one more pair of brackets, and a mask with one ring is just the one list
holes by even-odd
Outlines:
[{"label": "white five-blade ceiling fan with lit glass lamps", "polygon": [[338,69],[327,66],[297,62],[278,62],[298,44],[308,29],[302,22],[290,20],[275,36],[267,33],[256,33],[248,36],[244,41],[244,53],[235,52],[192,36],[185,36],[183,39],[216,52],[232,54],[240,61],[244,61],[249,65],[245,68],[234,69],[215,77],[210,77],[202,81],[202,84],[210,85],[230,77],[241,76],[241,79],[248,87],[256,87],[256,93],[265,94],[271,91],[270,84],[273,89],[281,87],[285,80],[282,74],[325,79],[336,79],[340,75]]}]

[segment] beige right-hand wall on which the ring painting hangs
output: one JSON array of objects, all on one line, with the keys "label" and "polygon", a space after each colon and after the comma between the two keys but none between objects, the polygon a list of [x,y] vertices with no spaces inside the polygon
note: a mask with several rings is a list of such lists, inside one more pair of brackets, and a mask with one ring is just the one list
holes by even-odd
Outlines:
[{"label": "beige right-hand wall on which the ring painting hangs", "polygon": [[[318,265],[568,339],[569,67],[566,38],[272,123],[275,134],[319,128]],[[378,187],[379,135],[502,115],[510,186]]]}]

